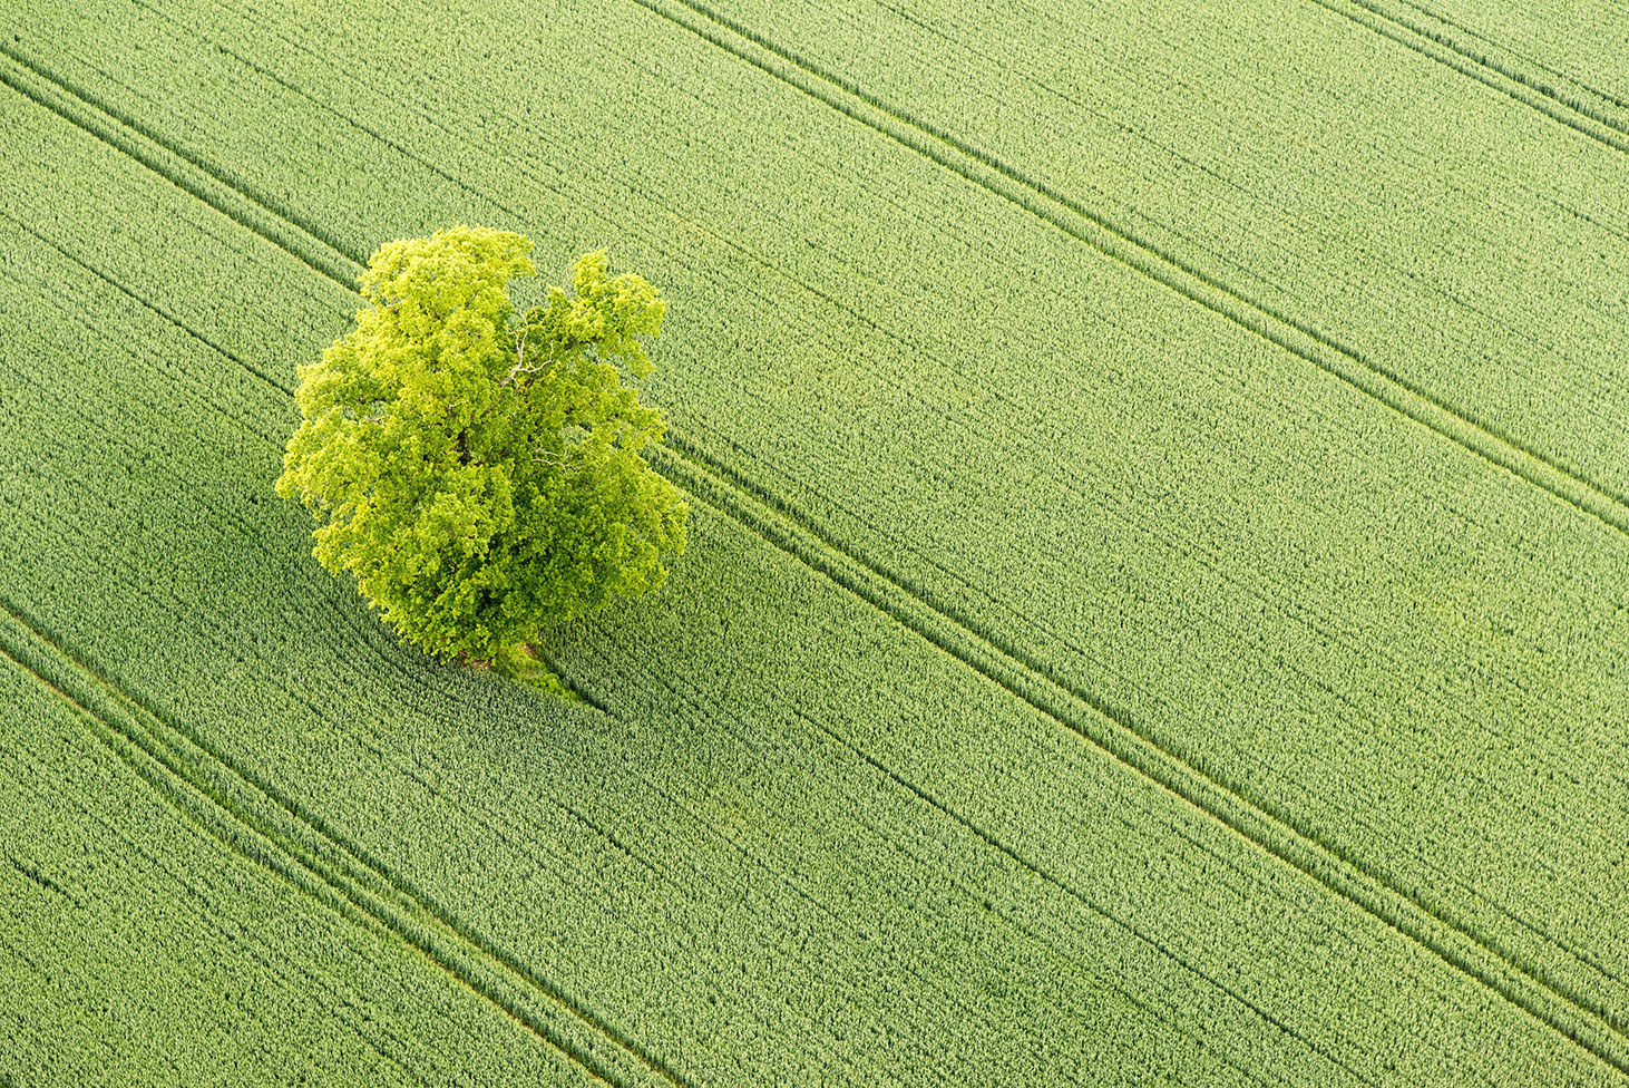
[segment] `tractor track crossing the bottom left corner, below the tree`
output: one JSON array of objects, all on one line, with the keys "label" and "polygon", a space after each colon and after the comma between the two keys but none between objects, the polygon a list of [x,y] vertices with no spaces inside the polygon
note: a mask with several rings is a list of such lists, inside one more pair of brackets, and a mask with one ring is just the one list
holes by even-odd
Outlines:
[{"label": "tractor track crossing the bottom left corner, below the tree", "polygon": [[0,621],[8,621],[0,622],[0,655],[83,715],[132,770],[212,837],[347,920],[419,951],[596,1080],[616,1088],[691,1088],[687,1078],[459,923],[363,847],[239,767],[195,730],[168,720],[98,673],[15,603],[0,598]]}]

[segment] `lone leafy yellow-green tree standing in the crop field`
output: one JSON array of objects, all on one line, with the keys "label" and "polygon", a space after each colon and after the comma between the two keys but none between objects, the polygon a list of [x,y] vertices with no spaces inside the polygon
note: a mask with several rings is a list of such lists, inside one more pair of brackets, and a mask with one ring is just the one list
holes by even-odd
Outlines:
[{"label": "lone leafy yellow-green tree standing in the crop field", "polygon": [[660,586],[687,508],[640,456],[661,412],[622,381],[652,373],[666,303],[599,251],[518,316],[529,252],[472,226],[381,246],[355,327],[298,368],[277,494],[404,640],[564,692],[528,643]]}]

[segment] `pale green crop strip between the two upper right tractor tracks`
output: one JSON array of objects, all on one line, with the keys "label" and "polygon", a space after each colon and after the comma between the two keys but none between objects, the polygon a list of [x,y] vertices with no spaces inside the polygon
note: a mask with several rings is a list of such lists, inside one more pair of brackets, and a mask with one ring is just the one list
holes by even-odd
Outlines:
[{"label": "pale green crop strip between the two upper right tractor tracks", "polygon": [[1629,135],[1583,140],[1315,3],[655,7],[717,13],[1626,492]]}]

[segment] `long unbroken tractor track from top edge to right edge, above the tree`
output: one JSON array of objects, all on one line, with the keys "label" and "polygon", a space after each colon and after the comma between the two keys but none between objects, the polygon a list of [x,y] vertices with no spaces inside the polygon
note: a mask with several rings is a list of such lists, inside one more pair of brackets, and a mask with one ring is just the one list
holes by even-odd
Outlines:
[{"label": "long unbroken tractor track from top edge to right edge, above the tree", "polygon": [[653,15],[712,42],[736,59],[797,88],[831,109],[1015,204],[1111,261],[1204,306],[1241,329],[1311,363],[1556,498],[1629,534],[1629,498],[1608,492],[1497,425],[1451,407],[1391,368],[1363,357],[1310,324],[1258,303],[1106,215],[1046,182],[1028,178],[966,140],[872,96],[751,28],[694,0],[632,0]]}]

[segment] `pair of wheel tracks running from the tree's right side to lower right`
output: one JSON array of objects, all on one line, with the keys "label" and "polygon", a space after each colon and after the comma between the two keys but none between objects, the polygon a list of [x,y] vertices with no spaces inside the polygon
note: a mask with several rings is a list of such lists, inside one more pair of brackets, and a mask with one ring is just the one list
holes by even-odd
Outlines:
[{"label": "pair of wheel tracks running from the tree's right side to lower right", "polygon": [[1129,770],[1220,821],[1279,862],[1572,1039],[1619,1073],[1629,1075],[1629,1039],[1598,1002],[1546,979],[1535,967],[1515,963],[1471,928],[1393,888],[1360,862],[1297,829],[1287,816],[1271,811],[1197,762],[1166,749],[1126,710],[1054,679],[1023,650],[981,634],[974,622],[943,608],[932,594],[907,586],[889,572],[829,541],[777,498],[751,490],[741,477],[722,464],[712,464],[684,440],[670,435],[668,441],[676,453],[658,446],[652,450],[650,461],[674,484],[891,616]]}]

